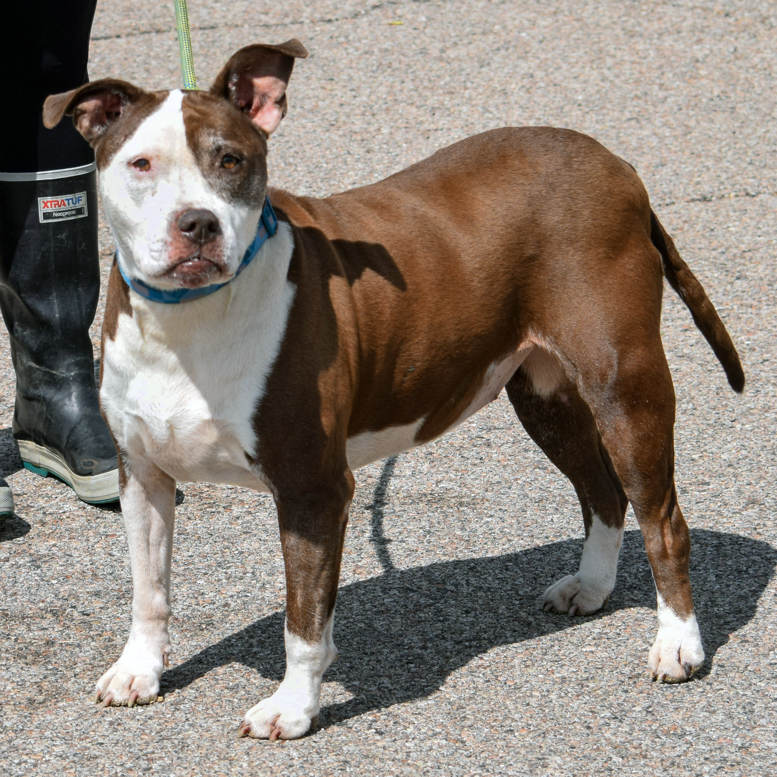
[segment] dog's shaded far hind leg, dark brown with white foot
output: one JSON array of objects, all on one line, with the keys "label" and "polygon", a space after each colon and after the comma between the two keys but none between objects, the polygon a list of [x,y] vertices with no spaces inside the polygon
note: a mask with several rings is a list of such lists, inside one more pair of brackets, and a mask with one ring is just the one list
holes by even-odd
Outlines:
[{"label": "dog's shaded far hind leg, dark brown with white foot", "polygon": [[615,586],[628,500],[591,410],[555,357],[535,348],[506,388],[524,429],[570,479],[583,510],[586,538],[580,569],[552,584],[542,606],[588,615]]}]

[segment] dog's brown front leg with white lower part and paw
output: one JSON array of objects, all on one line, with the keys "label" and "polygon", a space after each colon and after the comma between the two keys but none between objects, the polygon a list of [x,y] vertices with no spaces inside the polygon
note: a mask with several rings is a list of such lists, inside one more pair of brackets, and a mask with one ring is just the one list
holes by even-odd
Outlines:
[{"label": "dog's brown front leg with white lower part and paw", "polygon": [[276,498],[286,567],[286,675],[272,696],[246,713],[241,736],[295,739],[319,713],[321,678],[337,658],[332,627],[353,494],[347,472],[335,486]]}]

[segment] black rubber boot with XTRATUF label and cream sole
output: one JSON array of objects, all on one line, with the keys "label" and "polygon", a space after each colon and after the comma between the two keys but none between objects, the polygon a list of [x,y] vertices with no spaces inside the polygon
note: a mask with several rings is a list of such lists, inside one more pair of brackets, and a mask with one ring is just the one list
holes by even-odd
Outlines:
[{"label": "black rubber boot with XTRATUF label and cream sole", "polygon": [[0,179],[0,308],[16,369],[13,436],[25,467],[104,503],[118,499],[119,484],[89,339],[99,296],[93,167]]}]

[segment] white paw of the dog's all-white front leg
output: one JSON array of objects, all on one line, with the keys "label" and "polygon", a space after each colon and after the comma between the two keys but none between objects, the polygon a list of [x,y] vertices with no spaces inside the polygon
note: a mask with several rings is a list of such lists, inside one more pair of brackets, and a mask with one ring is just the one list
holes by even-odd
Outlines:
[{"label": "white paw of the dog's all-white front leg", "polygon": [[95,688],[95,702],[103,706],[134,707],[136,704],[150,704],[159,695],[159,678],[168,664],[170,650],[159,651],[159,657],[147,650],[127,644],[124,653]]}]

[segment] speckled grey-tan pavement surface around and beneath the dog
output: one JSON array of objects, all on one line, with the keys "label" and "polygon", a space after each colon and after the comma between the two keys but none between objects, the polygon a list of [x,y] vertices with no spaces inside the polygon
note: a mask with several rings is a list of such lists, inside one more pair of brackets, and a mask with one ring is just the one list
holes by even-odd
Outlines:
[{"label": "speckled grey-tan pavement surface around and beneath the dog", "polygon": [[[368,183],[503,124],[573,127],[636,166],[748,378],[735,396],[667,291],[678,489],[708,660],[686,685],[647,680],[654,592],[631,515],[601,613],[538,610],[577,568],[582,521],[502,397],[357,476],[341,658],[310,736],[235,739],[284,667],[274,507],[237,488],[180,486],[164,701],[93,706],[129,625],[121,516],[19,469],[2,340],[0,474],[18,515],[0,525],[0,771],[777,774],[775,5],[192,0],[190,12],[203,85],[256,40],[294,36],[312,52],[272,141],[276,185]],[[101,0],[92,78],[177,86],[173,26],[172,3]],[[107,268],[105,228],[102,257]]]}]

